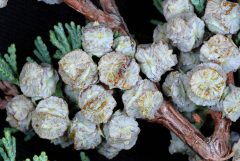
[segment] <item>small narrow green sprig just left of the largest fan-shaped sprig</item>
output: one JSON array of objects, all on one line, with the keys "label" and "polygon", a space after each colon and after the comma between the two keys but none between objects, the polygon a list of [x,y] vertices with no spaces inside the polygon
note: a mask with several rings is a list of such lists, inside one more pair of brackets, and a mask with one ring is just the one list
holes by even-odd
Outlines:
[{"label": "small narrow green sprig just left of the largest fan-shaped sprig", "polygon": [[43,42],[42,38],[38,36],[34,40],[34,44],[36,46],[36,49],[33,51],[34,55],[42,62],[42,63],[48,63],[51,64],[52,60],[49,54],[49,51],[47,49],[46,44]]}]

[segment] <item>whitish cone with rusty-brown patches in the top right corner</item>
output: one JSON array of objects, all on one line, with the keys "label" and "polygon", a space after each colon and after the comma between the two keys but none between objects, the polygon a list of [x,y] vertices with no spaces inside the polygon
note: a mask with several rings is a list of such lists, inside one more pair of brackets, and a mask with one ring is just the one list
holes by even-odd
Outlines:
[{"label": "whitish cone with rusty-brown patches in the top right corner", "polygon": [[226,0],[207,1],[203,20],[214,33],[234,34],[240,27],[240,6]]}]

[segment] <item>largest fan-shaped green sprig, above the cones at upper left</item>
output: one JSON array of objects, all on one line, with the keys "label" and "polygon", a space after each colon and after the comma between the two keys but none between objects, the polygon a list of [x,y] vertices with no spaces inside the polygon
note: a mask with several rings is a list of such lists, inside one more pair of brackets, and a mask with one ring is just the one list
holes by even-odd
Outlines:
[{"label": "largest fan-shaped green sprig, above the cones at upper left", "polygon": [[54,30],[50,30],[50,41],[58,48],[54,54],[54,58],[61,59],[66,53],[81,47],[81,28],[74,22],[65,24],[68,36],[64,31],[62,23],[54,26]]}]

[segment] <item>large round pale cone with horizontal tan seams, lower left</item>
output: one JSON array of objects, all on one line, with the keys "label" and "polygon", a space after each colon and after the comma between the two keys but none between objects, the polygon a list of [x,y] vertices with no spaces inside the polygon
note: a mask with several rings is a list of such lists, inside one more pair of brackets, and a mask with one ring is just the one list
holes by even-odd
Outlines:
[{"label": "large round pale cone with horizontal tan seams, lower left", "polygon": [[40,138],[56,139],[67,130],[68,105],[58,97],[51,96],[40,101],[32,115],[32,126]]}]

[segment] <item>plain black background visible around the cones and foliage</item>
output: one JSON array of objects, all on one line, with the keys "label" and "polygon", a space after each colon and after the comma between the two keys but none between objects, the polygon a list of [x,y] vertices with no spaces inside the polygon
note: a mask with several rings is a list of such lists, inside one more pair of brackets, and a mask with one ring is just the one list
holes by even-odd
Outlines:
[{"label": "plain black background visible around the cones and foliage", "polygon": [[[97,4],[97,3],[96,3]],[[138,43],[151,43],[152,32],[155,25],[151,19],[163,19],[152,4],[152,0],[117,0],[120,12],[124,17],[130,33]],[[41,35],[45,42],[49,39],[49,30],[58,22],[74,21],[84,25],[84,17],[65,4],[46,5],[37,0],[9,0],[6,8],[0,9],[0,53],[7,51],[11,43],[17,47],[18,66],[25,62],[26,56],[31,55],[34,49],[33,40]],[[47,43],[48,44],[48,43]],[[48,44],[48,46],[51,46]],[[54,49],[50,49],[54,51]],[[8,126],[4,121],[5,112],[0,111],[0,136],[3,127]],[[139,121],[141,133],[137,144],[128,151],[122,151],[112,161],[186,161],[183,155],[170,155],[168,145],[169,131],[161,125]],[[49,160],[79,161],[79,151],[72,146],[62,149],[50,144],[47,140],[35,136],[32,140],[24,142],[24,135],[17,133],[17,160],[24,160],[34,154],[45,151]],[[86,151],[91,161],[107,161],[95,150]]]}]

